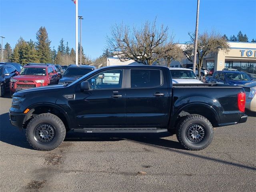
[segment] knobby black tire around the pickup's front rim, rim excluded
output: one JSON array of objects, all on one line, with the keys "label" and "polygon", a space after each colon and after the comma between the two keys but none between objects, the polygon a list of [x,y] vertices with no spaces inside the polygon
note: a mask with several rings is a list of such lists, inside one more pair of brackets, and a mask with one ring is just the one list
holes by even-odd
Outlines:
[{"label": "knobby black tire around the pickup's front rim, rim excluded", "polygon": [[[36,129],[40,124],[50,124],[54,128],[54,138],[46,143],[36,138]],[[54,114],[43,113],[34,117],[26,127],[26,138],[30,146],[36,150],[50,151],[57,148],[66,136],[63,122]]]}]

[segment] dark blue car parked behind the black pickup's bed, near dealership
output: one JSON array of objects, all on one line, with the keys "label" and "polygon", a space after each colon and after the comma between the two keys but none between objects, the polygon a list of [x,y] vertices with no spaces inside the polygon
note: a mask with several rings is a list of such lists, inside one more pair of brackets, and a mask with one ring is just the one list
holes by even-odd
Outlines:
[{"label": "dark blue car parked behind the black pickup's bed, near dealership", "polygon": [[248,74],[240,71],[216,71],[212,77],[206,77],[205,83],[243,85],[253,82]]}]

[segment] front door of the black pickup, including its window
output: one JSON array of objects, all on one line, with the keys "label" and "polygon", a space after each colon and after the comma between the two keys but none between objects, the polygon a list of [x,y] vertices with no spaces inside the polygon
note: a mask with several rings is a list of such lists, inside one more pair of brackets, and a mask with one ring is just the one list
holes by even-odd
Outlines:
[{"label": "front door of the black pickup, including its window", "polygon": [[126,89],[124,69],[99,72],[87,81],[90,90],[77,91],[70,105],[76,113],[79,126],[126,126]]}]

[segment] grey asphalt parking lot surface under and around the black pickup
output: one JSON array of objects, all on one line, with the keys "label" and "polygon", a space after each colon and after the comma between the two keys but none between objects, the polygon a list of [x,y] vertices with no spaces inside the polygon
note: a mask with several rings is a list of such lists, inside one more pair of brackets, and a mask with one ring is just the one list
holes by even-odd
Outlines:
[{"label": "grey asphalt parking lot surface under and around the black pickup", "polygon": [[201,151],[176,135],[68,132],[55,150],[33,150],[0,98],[1,191],[256,191],[256,117],[214,129]]}]

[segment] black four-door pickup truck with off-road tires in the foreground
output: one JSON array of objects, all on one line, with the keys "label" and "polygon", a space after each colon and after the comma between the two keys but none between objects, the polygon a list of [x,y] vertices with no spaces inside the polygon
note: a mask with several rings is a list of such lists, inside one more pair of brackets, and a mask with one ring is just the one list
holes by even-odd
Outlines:
[{"label": "black four-door pickup truck with off-road tires in the foreground", "polygon": [[66,131],[85,133],[176,132],[188,150],[206,148],[213,126],[244,123],[242,87],[172,85],[161,66],[112,66],[71,84],[21,90],[12,98],[10,121],[26,128],[36,150],[53,150]]}]

